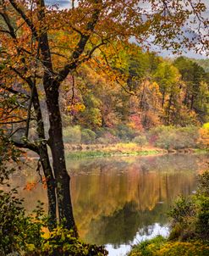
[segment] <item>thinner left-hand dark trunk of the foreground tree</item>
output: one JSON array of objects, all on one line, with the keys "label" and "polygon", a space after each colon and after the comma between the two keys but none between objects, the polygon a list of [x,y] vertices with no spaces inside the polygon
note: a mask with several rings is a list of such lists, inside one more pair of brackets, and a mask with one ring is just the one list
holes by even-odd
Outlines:
[{"label": "thinner left-hand dark trunk of the foreground tree", "polygon": [[57,214],[56,214],[56,185],[54,181],[54,176],[51,168],[51,164],[47,152],[47,144],[45,138],[44,124],[41,114],[41,106],[39,102],[38,92],[36,86],[34,88],[33,106],[36,112],[36,122],[37,122],[37,133],[41,144],[39,146],[39,155],[41,160],[41,166],[47,182],[47,198],[48,198],[48,227],[51,231],[57,225]]}]

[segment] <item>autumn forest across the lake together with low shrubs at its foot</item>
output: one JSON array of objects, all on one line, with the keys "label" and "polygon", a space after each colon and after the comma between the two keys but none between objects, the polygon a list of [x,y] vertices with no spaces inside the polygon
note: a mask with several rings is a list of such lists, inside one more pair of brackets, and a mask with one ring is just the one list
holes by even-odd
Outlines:
[{"label": "autumn forest across the lake together with low shrubs at its foot", "polygon": [[126,76],[125,89],[88,66],[63,85],[64,142],[206,146],[206,139],[198,137],[209,111],[208,73],[201,65],[189,58],[142,53],[131,44],[120,53],[121,64],[114,69]]}]

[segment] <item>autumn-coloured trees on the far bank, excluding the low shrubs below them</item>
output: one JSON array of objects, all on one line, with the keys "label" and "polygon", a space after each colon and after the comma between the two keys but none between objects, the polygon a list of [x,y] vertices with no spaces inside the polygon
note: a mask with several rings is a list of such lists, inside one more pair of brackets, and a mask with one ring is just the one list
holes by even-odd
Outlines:
[{"label": "autumn-coloured trees on the far bank, excluding the low shrubs below them", "polygon": [[190,58],[142,53],[135,45],[120,54],[113,70],[123,77],[121,81],[114,79],[115,73],[96,74],[90,65],[66,81],[61,97],[65,126],[98,131],[127,125],[144,131],[208,121],[208,73],[199,64]]}]

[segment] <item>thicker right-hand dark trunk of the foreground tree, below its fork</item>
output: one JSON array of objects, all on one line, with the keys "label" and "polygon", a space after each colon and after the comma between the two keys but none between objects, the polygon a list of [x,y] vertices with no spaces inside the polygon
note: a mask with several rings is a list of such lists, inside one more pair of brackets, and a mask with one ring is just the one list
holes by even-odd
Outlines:
[{"label": "thicker right-hand dark trunk of the foreground tree, below its fork", "polygon": [[57,81],[46,81],[44,86],[50,123],[49,146],[52,151],[52,165],[57,181],[59,221],[66,228],[73,229],[74,234],[77,236],[70,198],[70,178],[66,169],[64,157],[62,120],[58,104],[58,86],[59,84]]}]

